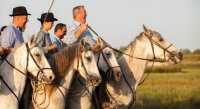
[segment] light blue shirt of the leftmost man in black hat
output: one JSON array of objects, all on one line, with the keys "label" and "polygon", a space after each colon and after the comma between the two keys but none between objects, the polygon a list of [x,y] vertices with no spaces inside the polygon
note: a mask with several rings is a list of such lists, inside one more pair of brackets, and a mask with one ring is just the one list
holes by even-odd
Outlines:
[{"label": "light blue shirt of the leftmost man in black hat", "polygon": [[1,46],[4,48],[14,48],[23,42],[22,32],[14,24],[6,27],[1,34]]}]

